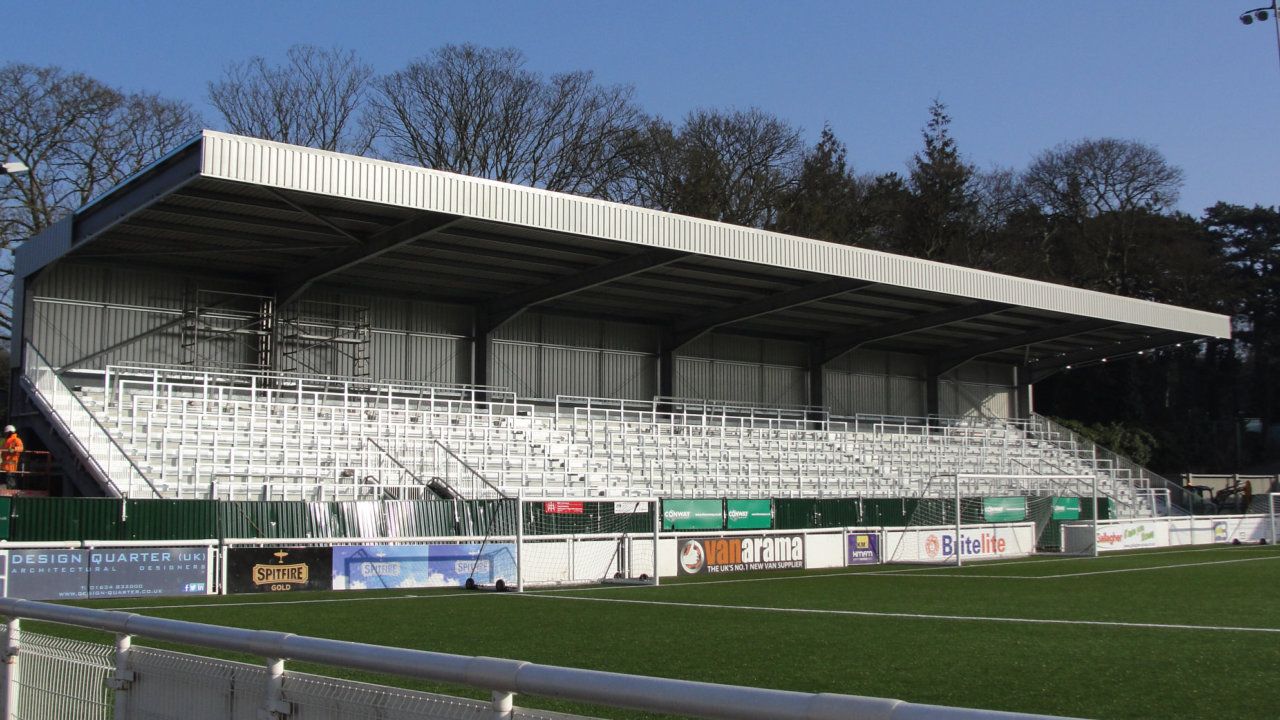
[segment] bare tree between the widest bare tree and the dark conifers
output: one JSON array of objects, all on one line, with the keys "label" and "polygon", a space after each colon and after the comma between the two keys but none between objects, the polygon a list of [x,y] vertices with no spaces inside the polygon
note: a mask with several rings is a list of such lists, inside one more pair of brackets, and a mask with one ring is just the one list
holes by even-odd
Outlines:
[{"label": "bare tree between the widest bare tree and the dark conifers", "polygon": [[637,200],[750,227],[777,224],[804,163],[800,131],[759,109],[690,113],[680,129],[653,120],[637,156]]}]

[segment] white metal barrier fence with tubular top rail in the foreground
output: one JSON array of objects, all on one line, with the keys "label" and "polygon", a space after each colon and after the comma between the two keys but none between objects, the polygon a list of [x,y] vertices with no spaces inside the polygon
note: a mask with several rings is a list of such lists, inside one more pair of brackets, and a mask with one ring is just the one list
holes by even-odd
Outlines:
[{"label": "white metal barrier fence with tubular top rail in the foreground", "polygon": [[[420,650],[246,630],[70,607],[0,600],[9,618],[5,664],[0,667],[4,715],[18,717],[332,717],[479,719],[573,717],[520,710],[516,693],[650,712],[736,720],[1034,720],[1025,715],[914,705],[897,700],[800,693],[719,685],[667,678],[622,675],[538,665],[518,660],[467,657]],[[92,643],[24,641],[19,619],[46,620],[116,633],[114,652]],[[134,648],[133,635],[244,652],[264,666],[193,655]],[[42,643],[42,644],[41,644]],[[46,648],[41,651],[38,648]],[[63,652],[59,652],[63,648]],[[68,650],[70,648],[70,650]],[[110,657],[110,661],[108,661]],[[466,701],[366,683],[287,673],[284,659],[489,691],[492,702]],[[114,669],[114,670],[111,670]],[[33,675],[50,683],[32,682]],[[97,680],[102,683],[99,684]],[[109,691],[104,691],[104,685]],[[42,692],[54,687],[55,692]],[[108,700],[110,693],[110,700]]]}]

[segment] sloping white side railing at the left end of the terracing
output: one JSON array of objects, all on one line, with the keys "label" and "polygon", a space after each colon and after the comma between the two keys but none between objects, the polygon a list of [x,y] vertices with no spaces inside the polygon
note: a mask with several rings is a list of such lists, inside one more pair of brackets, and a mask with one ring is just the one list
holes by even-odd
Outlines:
[{"label": "sloping white side railing at the left end of the terracing", "polygon": [[24,379],[33,402],[42,405],[67,443],[102,488],[114,497],[160,497],[161,493],[120,443],[91,413],[56,369],[29,342],[24,345]]}]

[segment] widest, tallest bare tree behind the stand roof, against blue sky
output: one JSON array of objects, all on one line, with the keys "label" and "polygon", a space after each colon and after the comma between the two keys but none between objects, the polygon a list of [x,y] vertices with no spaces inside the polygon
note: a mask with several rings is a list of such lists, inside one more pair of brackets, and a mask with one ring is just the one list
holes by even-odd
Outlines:
[{"label": "widest, tallest bare tree behind the stand roof, against blue sky", "polygon": [[390,159],[593,197],[625,199],[643,115],[589,72],[544,78],[513,49],[445,45],[378,81]]}]

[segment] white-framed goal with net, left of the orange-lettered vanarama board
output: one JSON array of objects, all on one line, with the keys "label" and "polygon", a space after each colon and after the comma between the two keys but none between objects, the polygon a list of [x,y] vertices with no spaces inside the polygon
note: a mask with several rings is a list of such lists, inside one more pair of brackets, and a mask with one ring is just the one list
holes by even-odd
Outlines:
[{"label": "white-framed goal with net, left of the orange-lettered vanarama board", "polygon": [[517,589],[658,583],[657,498],[517,502]]}]

